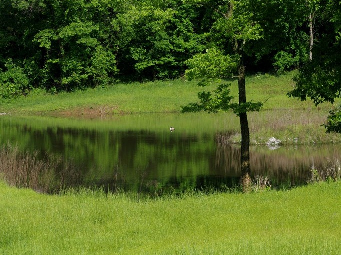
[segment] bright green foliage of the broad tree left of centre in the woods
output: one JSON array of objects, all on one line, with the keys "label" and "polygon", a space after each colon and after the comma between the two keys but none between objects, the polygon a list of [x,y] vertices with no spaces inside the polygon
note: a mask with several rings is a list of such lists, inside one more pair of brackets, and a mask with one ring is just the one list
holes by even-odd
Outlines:
[{"label": "bright green foliage of the broad tree left of centre in the woods", "polygon": [[[95,16],[92,16],[100,10],[105,11],[103,6],[94,1],[89,4],[83,1],[79,3],[77,7],[73,4],[65,6],[68,8],[67,14],[73,14],[66,24],[60,22],[61,16],[56,17],[60,20],[52,28],[37,33],[33,40],[46,52],[44,69],[45,75],[49,77],[44,80],[58,85],[59,90],[106,85],[109,77],[117,72],[113,49],[108,49],[101,42],[107,36],[102,31],[103,21],[94,20]],[[77,8],[78,12],[73,12],[72,8]],[[90,8],[88,18],[84,19],[83,13]]]}]

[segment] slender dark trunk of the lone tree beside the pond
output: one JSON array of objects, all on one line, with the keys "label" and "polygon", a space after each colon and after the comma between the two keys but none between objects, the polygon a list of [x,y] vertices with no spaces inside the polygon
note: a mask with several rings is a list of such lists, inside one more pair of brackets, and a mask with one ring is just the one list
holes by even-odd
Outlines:
[{"label": "slender dark trunk of the lone tree beside the pond", "polygon": [[[238,94],[239,94],[239,104],[246,102],[246,91],[245,91],[245,66],[243,62],[238,66]],[[241,185],[244,192],[250,190],[251,178],[250,178],[250,133],[248,118],[246,112],[239,113],[240,129],[242,134],[241,142]]]}]

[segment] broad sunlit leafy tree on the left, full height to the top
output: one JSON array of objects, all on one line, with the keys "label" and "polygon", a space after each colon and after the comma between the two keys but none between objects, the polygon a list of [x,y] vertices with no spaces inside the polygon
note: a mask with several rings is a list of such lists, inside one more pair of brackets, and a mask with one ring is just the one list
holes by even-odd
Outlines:
[{"label": "broad sunlit leafy tree on the left, full height to the top", "polygon": [[51,17],[33,39],[41,49],[46,87],[73,90],[103,85],[117,73],[115,19],[118,1],[50,1]]}]

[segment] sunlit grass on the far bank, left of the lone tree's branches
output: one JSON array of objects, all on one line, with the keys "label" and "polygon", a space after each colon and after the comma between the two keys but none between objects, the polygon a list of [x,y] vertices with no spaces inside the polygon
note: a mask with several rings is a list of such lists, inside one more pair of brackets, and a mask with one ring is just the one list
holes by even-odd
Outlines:
[{"label": "sunlit grass on the far bank, left of the lone tree's branches", "polygon": [[196,99],[200,88],[194,82],[175,80],[113,84],[72,93],[50,95],[36,89],[26,97],[0,102],[2,111],[50,113],[74,108],[102,108],[106,114],[180,112],[180,105]]}]

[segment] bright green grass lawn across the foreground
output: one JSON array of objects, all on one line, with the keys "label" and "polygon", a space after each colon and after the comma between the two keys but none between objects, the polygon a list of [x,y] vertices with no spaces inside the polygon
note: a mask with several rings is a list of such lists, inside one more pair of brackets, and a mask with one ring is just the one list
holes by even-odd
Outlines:
[{"label": "bright green grass lawn across the foreground", "polygon": [[0,254],[340,254],[341,182],[137,202],[0,182]]}]

